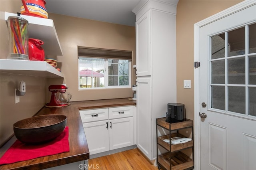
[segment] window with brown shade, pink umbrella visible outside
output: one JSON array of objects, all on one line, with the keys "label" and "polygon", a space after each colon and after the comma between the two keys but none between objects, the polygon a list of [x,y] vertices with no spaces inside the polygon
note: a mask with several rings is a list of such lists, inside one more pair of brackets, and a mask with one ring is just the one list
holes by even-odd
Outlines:
[{"label": "window with brown shade, pink umbrella visible outside", "polygon": [[131,87],[132,51],[78,47],[78,89]]}]

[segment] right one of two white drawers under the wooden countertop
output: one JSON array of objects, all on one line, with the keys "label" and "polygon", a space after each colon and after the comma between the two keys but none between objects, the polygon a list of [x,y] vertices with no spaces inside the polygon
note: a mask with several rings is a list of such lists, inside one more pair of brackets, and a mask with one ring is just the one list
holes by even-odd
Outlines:
[{"label": "right one of two white drawers under the wooden countertop", "polygon": [[109,119],[133,116],[133,106],[112,107],[112,108],[109,108],[108,111],[109,111]]}]

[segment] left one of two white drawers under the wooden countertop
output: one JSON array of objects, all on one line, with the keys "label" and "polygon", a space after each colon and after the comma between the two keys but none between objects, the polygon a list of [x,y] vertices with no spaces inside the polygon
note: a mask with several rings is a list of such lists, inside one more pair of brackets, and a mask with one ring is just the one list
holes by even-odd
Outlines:
[{"label": "left one of two white drawers under the wooden countertop", "polygon": [[102,121],[108,119],[108,108],[80,110],[79,113],[83,123],[92,121]]}]

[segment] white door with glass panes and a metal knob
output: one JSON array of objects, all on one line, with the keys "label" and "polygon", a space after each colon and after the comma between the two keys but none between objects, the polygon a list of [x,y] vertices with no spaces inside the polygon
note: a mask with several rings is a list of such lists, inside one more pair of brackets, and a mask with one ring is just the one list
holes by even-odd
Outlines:
[{"label": "white door with glass panes and a metal knob", "polygon": [[256,5],[200,28],[200,169],[256,169]]}]

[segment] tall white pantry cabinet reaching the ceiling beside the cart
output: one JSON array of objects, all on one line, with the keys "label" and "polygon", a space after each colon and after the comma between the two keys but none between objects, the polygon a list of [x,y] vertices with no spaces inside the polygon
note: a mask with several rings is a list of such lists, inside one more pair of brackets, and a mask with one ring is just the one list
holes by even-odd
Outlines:
[{"label": "tall white pantry cabinet reaching the ceiling beside the cart", "polygon": [[140,1],[136,14],[137,146],[156,159],[156,118],[176,103],[176,6],[178,1]]}]

